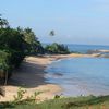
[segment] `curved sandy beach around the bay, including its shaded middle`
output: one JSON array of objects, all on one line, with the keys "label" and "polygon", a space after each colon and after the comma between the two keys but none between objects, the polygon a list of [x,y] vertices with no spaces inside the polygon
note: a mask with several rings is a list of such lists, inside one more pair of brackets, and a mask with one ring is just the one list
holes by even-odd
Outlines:
[{"label": "curved sandy beach around the bay, including its shaded middle", "polygon": [[59,55],[59,56],[45,56],[45,57],[26,57],[20,69],[13,72],[12,77],[8,82],[5,88],[5,97],[1,97],[0,101],[13,100],[13,96],[17,94],[17,89],[22,87],[26,89],[24,97],[31,96],[34,92],[44,92],[37,99],[51,99],[58,92],[61,92],[61,87],[56,84],[46,82],[45,69],[52,61],[63,58],[76,58],[76,57],[95,57],[95,55]]}]

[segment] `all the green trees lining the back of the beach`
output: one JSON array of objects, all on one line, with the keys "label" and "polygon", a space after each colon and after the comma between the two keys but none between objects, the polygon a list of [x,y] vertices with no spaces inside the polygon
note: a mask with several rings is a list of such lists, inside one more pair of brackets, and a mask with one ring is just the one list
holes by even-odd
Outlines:
[{"label": "all the green trees lining the back of the beach", "polygon": [[[55,35],[53,32],[51,32]],[[0,78],[7,80],[12,71],[20,66],[28,55],[66,55],[64,45],[52,44],[43,47],[32,28],[12,28],[5,19],[0,16]]]}]

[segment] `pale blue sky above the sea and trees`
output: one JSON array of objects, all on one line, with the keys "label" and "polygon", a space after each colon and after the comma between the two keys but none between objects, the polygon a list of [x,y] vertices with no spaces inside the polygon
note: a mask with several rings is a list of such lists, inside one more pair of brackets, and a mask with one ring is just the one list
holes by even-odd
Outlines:
[{"label": "pale blue sky above the sea and trees", "polygon": [[109,45],[109,0],[0,0],[0,13],[43,43]]}]

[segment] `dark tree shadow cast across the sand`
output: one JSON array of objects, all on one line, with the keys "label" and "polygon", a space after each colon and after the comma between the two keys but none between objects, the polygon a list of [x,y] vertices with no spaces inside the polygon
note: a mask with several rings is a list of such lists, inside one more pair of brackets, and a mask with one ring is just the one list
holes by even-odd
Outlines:
[{"label": "dark tree shadow cast across the sand", "polygon": [[45,65],[39,65],[31,62],[23,62],[21,66],[13,72],[8,85],[23,86],[34,88],[39,85],[48,84],[45,78]]}]

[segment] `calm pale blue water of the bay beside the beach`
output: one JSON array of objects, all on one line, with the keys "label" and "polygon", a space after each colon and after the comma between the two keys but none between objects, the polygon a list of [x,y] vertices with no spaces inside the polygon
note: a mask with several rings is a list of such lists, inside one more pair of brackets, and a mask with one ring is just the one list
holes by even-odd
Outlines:
[{"label": "calm pale blue water of the bay beside the beach", "polygon": [[72,58],[52,62],[47,82],[60,85],[66,96],[109,94],[109,59]]}]

